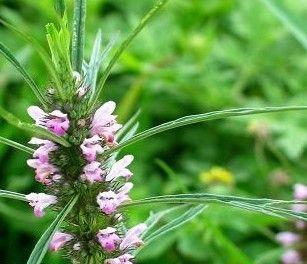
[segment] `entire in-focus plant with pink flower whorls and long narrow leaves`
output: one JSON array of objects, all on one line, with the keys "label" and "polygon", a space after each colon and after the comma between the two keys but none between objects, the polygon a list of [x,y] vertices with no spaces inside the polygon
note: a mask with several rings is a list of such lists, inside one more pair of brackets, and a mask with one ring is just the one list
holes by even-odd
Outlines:
[{"label": "entire in-focus plant with pink flower whorls and long narrow leaves", "polygon": [[[34,145],[34,149],[2,137],[0,140],[32,155],[27,163],[34,169],[35,180],[44,188],[44,192],[28,195],[1,190],[0,197],[28,202],[37,217],[43,217],[47,208],[58,212],[56,219],[34,247],[28,264],[41,263],[48,248],[52,251],[61,249],[63,256],[68,256],[76,264],[134,263],[141,246],[150,244],[161,235],[193,219],[210,203],[298,220],[307,219],[306,213],[286,207],[303,203],[300,201],[207,193],[131,200],[129,192],[133,188],[133,173],[129,165],[134,157],[120,156],[124,147],[184,125],[232,116],[307,110],[306,106],[286,106],[216,111],[182,117],[139,133],[137,112],[126,124],[119,124],[114,115],[115,102],[99,103],[104,84],[120,55],[166,2],[158,1],[117,49],[112,40],[101,52],[102,37],[98,32],[88,62],[83,56],[85,0],[75,0],[72,30],[68,25],[65,2],[56,1],[59,27],[52,23],[46,27],[50,56],[30,36],[3,22],[37,49],[46,63],[50,75],[49,87],[52,87],[44,91],[39,88],[9,49],[0,43],[0,52],[21,73],[40,102],[40,106],[29,106],[27,109],[34,124],[24,123],[0,107],[3,119],[31,132],[33,137],[29,144]],[[102,74],[101,65],[106,65]],[[151,215],[144,223],[126,227],[126,211],[136,206],[155,204],[172,205],[173,208]],[[175,209],[183,210],[184,213],[167,224],[157,225],[161,218]]]}]

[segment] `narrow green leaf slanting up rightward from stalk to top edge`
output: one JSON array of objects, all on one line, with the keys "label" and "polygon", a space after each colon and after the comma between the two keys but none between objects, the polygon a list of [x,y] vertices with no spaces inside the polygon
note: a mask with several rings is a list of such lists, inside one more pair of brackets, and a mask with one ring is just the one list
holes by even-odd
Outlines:
[{"label": "narrow green leaf slanting up rightward from stalk to top edge", "polygon": [[122,53],[127,49],[132,40],[142,31],[142,29],[148,24],[150,19],[168,2],[168,0],[159,0],[157,4],[141,19],[137,27],[129,34],[129,36],[122,42],[119,48],[116,50],[115,54],[111,58],[106,70],[103,72],[101,79],[98,84],[98,90],[94,97],[90,101],[90,111],[95,106],[100,93],[104,87],[104,84],[109,77],[111,70],[115,63],[118,61]]}]

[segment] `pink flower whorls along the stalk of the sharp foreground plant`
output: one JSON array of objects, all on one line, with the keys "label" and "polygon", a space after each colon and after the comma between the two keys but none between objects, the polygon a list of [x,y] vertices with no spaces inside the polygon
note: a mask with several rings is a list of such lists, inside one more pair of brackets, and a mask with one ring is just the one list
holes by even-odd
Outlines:
[{"label": "pink flower whorls along the stalk of the sharp foreground plant", "polygon": [[[124,220],[120,206],[130,200],[129,192],[133,188],[133,184],[129,182],[133,173],[128,166],[134,157],[126,155],[113,164],[110,164],[109,160],[100,158],[105,150],[117,144],[116,133],[122,125],[117,123],[116,115],[113,115],[115,107],[114,102],[106,102],[88,118],[87,136],[78,146],[71,147],[73,154],[66,150],[65,152],[64,147],[50,140],[31,139],[29,143],[38,148],[34,151],[33,159],[28,160],[28,165],[35,169],[35,179],[45,186],[46,193],[31,193],[26,198],[34,207],[35,215],[42,217],[44,209],[48,206],[56,205],[61,208],[67,202],[67,193],[83,193],[83,201],[80,202],[79,208],[75,209],[78,210],[76,211],[78,217],[72,217],[71,221],[75,221],[73,222],[75,226],[84,223],[91,223],[92,226],[88,224],[84,233],[75,232],[72,228],[65,230],[63,228],[62,231],[55,233],[50,243],[50,250],[69,248],[78,252],[84,249],[88,253],[91,250],[85,243],[94,242],[96,247],[100,248],[99,255],[103,256],[101,259],[105,264],[131,264],[133,261],[131,251],[142,245],[141,235],[147,228],[145,224],[139,224],[126,232],[120,229]],[[37,126],[66,139],[69,138],[70,132],[77,129],[74,124],[78,123],[78,120],[60,110],[46,113],[37,106],[31,106],[28,113]],[[82,160],[77,164],[80,168],[73,170],[72,173],[78,175],[68,177],[71,174],[69,170],[73,168],[73,160],[78,159]],[[64,166],[61,160],[68,162],[64,162]],[[88,199],[91,204],[85,204]],[[82,221],[80,215],[83,217]],[[95,217],[97,219],[92,221]],[[100,221],[101,218],[103,221]],[[76,222],[78,221],[76,219],[81,223]],[[102,223],[102,228],[97,228],[98,225],[93,224],[97,222]]]}]

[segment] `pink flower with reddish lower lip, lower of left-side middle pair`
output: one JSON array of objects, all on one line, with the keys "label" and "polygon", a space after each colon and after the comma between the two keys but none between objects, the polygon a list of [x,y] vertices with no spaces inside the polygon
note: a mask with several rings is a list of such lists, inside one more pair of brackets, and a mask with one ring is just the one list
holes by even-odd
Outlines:
[{"label": "pink flower with reddish lower lip, lower of left-side middle pair", "polygon": [[39,159],[29,159],[27,164],[35,169],[35,179],[45,185],[49,185],[53,180],[58,180],[61,177],[54,165],[41,162]]}]

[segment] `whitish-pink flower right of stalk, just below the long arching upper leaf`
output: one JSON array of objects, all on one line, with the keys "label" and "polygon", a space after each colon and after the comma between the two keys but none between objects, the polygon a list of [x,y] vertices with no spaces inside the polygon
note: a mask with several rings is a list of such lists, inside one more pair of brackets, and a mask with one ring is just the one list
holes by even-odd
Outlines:
[{"label": "whitish-pink flower right of stalk, just below the long arching upper leaf", "polygon": [[126,167],[131,164],[133,161],[132,155],[126,155],[121,160],[114,163],[110,172],[106,176],[106,181],[113,181],[119,177],[124,177],[126,180],[129,180],[133,173]]}]

